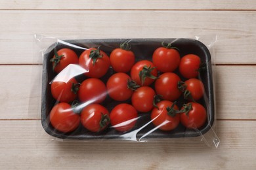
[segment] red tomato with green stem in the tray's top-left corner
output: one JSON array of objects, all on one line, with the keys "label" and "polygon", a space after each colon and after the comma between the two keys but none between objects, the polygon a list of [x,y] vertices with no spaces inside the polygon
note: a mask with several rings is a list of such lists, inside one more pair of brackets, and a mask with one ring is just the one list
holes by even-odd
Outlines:
[{"label": "red tomato with green stem in the tray's top-left corner", "polygon": [[54,48],[54,56],[50,59],[53,62],[53,70],[56,73],[60,73],[69,64],[78,64],[78,57],[75,52],[69,48],[62,48],[56,51]]}]

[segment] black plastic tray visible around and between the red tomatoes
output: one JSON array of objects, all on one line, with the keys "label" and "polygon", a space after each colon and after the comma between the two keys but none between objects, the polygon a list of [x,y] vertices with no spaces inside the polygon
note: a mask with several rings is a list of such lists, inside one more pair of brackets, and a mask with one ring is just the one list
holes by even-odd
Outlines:
[{"label": "black plastic tray visible around and between the red tomatoes", "polygon": [[[46,50],[44,59],[43,59],[43,88],[42,88],[42,107],[41,107],[41,123],[43,128],[49,135],[53,137],[58,137],[60,139],[117,139],[124,138],[125,133],[120,133],[116,131],[114,128],[108,127],[104,131],[100,133],[92,133],[85,129],[83,126],[80,126],[71,133],[62,133],[60,131],[56,131],[56,129],[51,126],[49,123],[49,112],[53,108],[56,101],[51,96],[51,86],[49,82],[53,80],[56,73],[52,70],[52,64],[49,61],[53,58],[54,52],[53,48],[59,50],[60,48],[71,48],[74,50],[79,56],[82,52],[82,48],[77,48],[77,46],[83,48],[91,48],[100,46],[100,50],[106,52],[106,54],[110,55],[114,48],[118,48],[121,42],[124,42],[127,39],[83,39],[83,40],[66,40],[56,42],[49,46]],[[214,122],[215,116],[215,106],[214,106],[214,93],[213,93],[213,77],[211,70],[211,55],[207,47],[200,41],[196,41],[194,39],[131,39],[129,42],[132,46],[131,50],[135,53],[136,60],[139,61],[141,59],[152,59],[152,54],[156,48],[161,46],[161,42],[172,42],[172,45],[179,48],[181,57],[186,54],[196,54],[200,56],[202,62],[206,63],[206,70],[200,75],[200,79],[202,80],[205,87],[205,95],[203,99],[199,101],[205,109],[207,110],[207,122],[205,125],[197,130],[194,129],[186,129],[181,124],[174,129],[173,131],[161,131],[160,129],[156,129],[152,131],[144,139],[154,139],[154,138],[178,138],[178,137],[197,137],[209,131]],[[63,43],[64,42],[64,43]],[[72,46],[70,46],[72,45]],[[75,46],[74,46],[75,45]],[[110,68],[110,71],[101,78],[104,82],[108,79],[110,75],[112,75],[114,71]],[[178,71],[176,71],[177,75],[179,75]],[[182,80],[181,75],[179,75]],[[79,75],[76,77],[77,80],[85,79],[85,76]],[[179,99],[180,102],[177,103],[179,108],[181,108],[184,102]],[[130,101],[127,101],[128,103]],[[117,105],[117,102],[112,101],[109,97],[102,103],[109,111]],[[136,131],[140,127],[144,126],[148,122],[150,122],[150,112],[139,114],[140,118],[137,120],[136,126],[126,135],[129,138],[129,134],[136,134],[137,139],[142,137],[148,131],[154,129],[154,125],[152,123],[148,124],[140,131]]]}]

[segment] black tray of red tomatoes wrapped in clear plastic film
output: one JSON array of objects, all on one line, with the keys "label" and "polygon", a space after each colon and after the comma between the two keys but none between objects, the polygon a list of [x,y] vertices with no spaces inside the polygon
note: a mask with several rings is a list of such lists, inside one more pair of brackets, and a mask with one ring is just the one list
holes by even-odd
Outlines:
[{"label": "black tray of red tomatoes wrapped in clear plastic film", "polygon": [[215,120],[211,65],[194,39],[58,41],[44,53],[41,123],[60,139],[198,137]]}]

